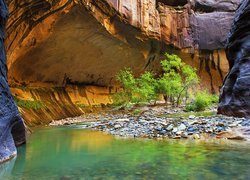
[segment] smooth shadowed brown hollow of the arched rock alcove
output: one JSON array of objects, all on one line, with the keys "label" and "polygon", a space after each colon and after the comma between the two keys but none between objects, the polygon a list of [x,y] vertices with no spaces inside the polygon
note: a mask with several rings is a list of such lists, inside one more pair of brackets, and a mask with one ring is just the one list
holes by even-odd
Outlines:
[{"label": "smooth shadowed brown hollow of the arched rock alcove", "polygon": [[[42,42],[30,37],[31,47],[9,65],[11,83],[108,86],[124,67],[144,70],[153,42],[133,40],[130,34],[135,30],[119,23],[113,25],[116,33],[127,31],[127,39],[115,38],[82,5],[67,11],[47,29],[46,36],[38,37]],[[43,30],[37,27],[33,31]],[[132,42],[126,43],[129,40]]]}]

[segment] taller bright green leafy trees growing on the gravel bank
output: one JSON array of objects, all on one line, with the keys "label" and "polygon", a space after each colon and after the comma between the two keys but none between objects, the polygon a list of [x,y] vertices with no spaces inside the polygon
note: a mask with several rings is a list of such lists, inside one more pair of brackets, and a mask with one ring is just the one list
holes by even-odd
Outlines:
[{"label": "taller bright green leafy trees growing on the gravel bank", "polygon": [[177,55],[165,54],[161,61],[162,76],[155,78],[151,72],[145,72],[135,78],[131,69],[126,68],[117,74],[116,79],[124,91],[116,93],[113,100],[116,104],[151,102],[160,94],[166,101],[172,100],[173,105],[179,105],[188,91],[199,82],[196,70],[182,62]]}]

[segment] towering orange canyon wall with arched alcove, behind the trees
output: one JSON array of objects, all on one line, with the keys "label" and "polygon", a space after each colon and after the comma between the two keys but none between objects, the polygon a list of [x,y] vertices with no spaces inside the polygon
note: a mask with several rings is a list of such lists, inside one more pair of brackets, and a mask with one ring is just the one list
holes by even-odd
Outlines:
[{"label": "towering orange canyon wall with arched alcove, behind the trees", "polygon": [[[48,104],[51,99],[42,111],[47,114],[35,112],[34,119],[58,119],[66,116],[65,108],[55,111],[55,98],[34,89],[63,97],[60,88],[114,87],[115,74],[124,67],[135,74],[160,73],[160,60],[168,52],[196,67],[203,87],[219,92],[228,72],[224,45],[239,1],[7,0],[9,83],[15,92],[19,89],[18,99],[25,100],[27,91],[31,101]],[[79,89],[71,91],[79,94]],[[73,106],[67,116],[81,113],[74,97],[68,97],[63,102]],[[107,104],[109,98],[96,101]]]}]

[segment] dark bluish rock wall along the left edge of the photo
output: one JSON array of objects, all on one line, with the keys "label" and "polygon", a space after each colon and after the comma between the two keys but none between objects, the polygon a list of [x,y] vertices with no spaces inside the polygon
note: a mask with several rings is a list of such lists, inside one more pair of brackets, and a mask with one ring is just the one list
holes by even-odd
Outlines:
[{"label": "dark bluish rock wall along the left edge of the photo", "polygon": [[[16,145],[25,142],[25,128],[7,83],[4,48],[8,10],[0,1],[0,163],[16,155]],[[14,139],[13,139],[14,138]]]}]

